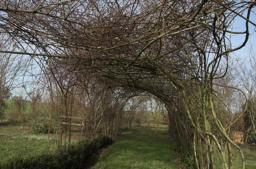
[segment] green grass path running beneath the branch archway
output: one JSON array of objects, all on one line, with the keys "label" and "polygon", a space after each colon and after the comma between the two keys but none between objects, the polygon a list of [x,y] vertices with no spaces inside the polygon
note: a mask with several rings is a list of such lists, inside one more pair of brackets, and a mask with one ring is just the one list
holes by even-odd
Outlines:
[{"label": "green grass path running beneath the branch archway", "polygon": [[114,141],[91,169],[177,169],[167,126],[133,127]]}]

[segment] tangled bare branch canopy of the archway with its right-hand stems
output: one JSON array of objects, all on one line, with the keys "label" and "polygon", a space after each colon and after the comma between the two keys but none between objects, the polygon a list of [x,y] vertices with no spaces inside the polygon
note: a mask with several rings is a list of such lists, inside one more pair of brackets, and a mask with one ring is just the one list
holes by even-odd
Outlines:
[{"label": "tangled bare branch canopy of the archway with its right-hand stems", "polygon": [[[109,97],[121,90],[129,91],[126,98],[149,92],[165,105],[170,132],[193,149],[198,169],[215,169],[214,153],[223,168],[231,169],[232,149],[240,152],[244,169],[245,157],[229,137],[242,113],[223,124],[215,86],[229,87],[218,81],[227,72],[230,52],[247,43],[249,24],[256,26],[250,20],[255,5],[227,0],[5,1],[0,29],[12,47],[0,52],[32,56],[46,74],[52,98],[59,93],[64,103],[98,84],[105,94],[111,90]],[[237,17],[245,20],[242,32],[232,30]],[[238,47],[230,42],[234,34],[244,36]]]}]

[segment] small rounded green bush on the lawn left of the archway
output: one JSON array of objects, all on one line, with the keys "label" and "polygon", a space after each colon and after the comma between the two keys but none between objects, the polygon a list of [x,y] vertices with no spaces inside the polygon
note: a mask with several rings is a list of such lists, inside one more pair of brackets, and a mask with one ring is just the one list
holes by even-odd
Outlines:
[{"label": "small rounded green bush on the lawn left of the archway", "polygon": [[[47,118],[36,118],[32,121],[32,131],[34,133],[44,133],[47,134],[49,131],[50,120]],[[54,125],[50,126],[50,133],[54,132]]]}]

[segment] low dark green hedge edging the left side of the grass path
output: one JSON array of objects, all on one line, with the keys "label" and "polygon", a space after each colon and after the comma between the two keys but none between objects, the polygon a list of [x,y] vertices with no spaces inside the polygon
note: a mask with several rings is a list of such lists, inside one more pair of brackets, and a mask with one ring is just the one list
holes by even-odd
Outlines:
[{"label": "low dark green hedge edging the left side of the grass path", "polygon": [[0,169],[80,169],[93,153],[110,144],[110,137],[99,135],[94,141],[80,140],[65,152],[10,158],[1,162]]}]

